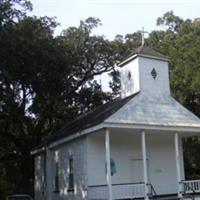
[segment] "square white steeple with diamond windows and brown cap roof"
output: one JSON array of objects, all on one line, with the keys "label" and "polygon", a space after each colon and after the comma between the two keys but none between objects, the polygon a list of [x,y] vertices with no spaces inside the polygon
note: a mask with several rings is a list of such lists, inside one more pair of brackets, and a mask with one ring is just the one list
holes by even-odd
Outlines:
[{"label": "square white steeple with diamond windows and brown cap roof", "polygon": [[149,95],[169,95],[169,57],[145,45],[135,49],[121,67],[121,95],[129,96],[136,92]]}]

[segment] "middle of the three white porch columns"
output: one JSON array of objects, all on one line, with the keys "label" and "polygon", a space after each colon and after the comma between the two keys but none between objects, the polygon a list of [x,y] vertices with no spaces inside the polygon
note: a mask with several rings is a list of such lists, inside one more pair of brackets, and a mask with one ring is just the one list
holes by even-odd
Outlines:
[{"label": "middle of the three white porch columns", "polygon": [[143,174],[144,174],[144,192],[145,200],[149,200],[148,196],[148,174],[147,174],[147,153],[146,153],[146,134],[142,131],[142,160],[143,160]]}]

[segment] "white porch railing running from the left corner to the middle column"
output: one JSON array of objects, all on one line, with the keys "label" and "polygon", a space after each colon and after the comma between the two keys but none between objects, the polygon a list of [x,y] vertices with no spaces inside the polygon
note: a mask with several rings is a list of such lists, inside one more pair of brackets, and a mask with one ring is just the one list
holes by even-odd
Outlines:
[{"label": "white porch railing running from the left corner to the middle column", "polygon": [[[113,199],[129,199],[144,197],[144,183],[112,184]],[[108,199],[107,185],[88,187],[88,199]]]}]

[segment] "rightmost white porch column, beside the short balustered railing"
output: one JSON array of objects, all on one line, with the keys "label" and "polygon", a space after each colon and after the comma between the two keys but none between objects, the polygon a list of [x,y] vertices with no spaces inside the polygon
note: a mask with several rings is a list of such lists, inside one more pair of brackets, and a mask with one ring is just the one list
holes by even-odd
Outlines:
[{"label": "rightmost white porch column, beside the short balustered railing", "polygon": [[180,152],[179,152],[179,136],[178,133],[174,135],[174,144],[175,144],[175,159],[176,159],[176,172],[177,172],[177,189],[178,197],[182,197],[181,190],[181,168],[180,168]]}]

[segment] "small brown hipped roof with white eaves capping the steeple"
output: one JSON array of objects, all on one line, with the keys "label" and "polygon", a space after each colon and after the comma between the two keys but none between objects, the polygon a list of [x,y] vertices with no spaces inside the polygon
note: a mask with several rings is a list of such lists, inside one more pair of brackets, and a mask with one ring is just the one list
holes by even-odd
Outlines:
[{"label": "small brown hipped roof with white eaves capping the steeple", "polygon": [[154,58],[154,59],[158,59],[158,60],[169,61],[169,57],[168,56],[165,56],[165,55],[153,50],[152,48],[144,45],[144,46],[140,46],[140,47],[134,49],[133,52],[130,55],[128,55],[119,64],[119,66],[123,66],[124,64],[126,64],[130,60],[135,59],[137,56],[150,57],[150,58]]}]

